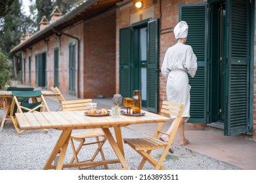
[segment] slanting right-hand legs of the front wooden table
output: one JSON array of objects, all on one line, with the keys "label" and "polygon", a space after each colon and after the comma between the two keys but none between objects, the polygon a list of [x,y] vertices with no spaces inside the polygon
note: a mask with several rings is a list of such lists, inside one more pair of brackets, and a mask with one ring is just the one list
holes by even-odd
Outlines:
[{"label": "slanting right-hand legs of the front wooden table", "polygon": [[[104,131],[108,142],[110,142],[110,145],[112,146],[114,152],[116,153],[117,158],[119,159],[123,169],[127,169],[129,170],[129,166],[127,164],[127,162],[125,161],[125,157],[123,156],[123,152],[121,152],[121,149],[119,148],[119,146],[123,147],[123,142],[121,141],[121,144],[119,144],[119,146],[116,144],[116,141],[114,140],[114,137],[112,136],[110,130],[108,128],[102,128],[102,131]],[[118,139],[121,137],[121,130],[115,130],[116,137],[117,137],[117,141],[119,141]],[[120,143],[120,141],[119,141]]]}]

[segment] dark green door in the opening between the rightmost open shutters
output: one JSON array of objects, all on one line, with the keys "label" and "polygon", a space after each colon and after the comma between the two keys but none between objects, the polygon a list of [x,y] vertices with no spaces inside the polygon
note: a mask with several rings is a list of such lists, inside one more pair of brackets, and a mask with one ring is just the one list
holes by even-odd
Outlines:
[{"label": "dark green door in the opening between the rightmost open shutters", "polygon": [[226,120],[226,3],[217,1],[210,5],[210,123],[224,127]]}]

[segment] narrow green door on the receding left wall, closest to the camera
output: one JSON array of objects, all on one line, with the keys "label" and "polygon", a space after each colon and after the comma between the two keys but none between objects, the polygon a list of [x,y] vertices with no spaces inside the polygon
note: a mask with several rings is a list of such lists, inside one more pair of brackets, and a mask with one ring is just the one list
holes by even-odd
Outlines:
[{"label": "narrow green door on the receding left wall, closest to the camera", "polygon": [[75,95],[75,42],[70,43],[69,76],[69,93]]}]

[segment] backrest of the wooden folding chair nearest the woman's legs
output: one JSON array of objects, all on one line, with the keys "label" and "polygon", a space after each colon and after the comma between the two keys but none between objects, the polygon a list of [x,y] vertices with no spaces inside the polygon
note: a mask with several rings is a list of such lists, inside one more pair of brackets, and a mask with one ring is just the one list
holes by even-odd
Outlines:
[{"label": "backrest of the wooden folding chair nearest the woman's legs", "polygon": [[[177,116],[177,118],[175,119],[175,120],[177,120],[177,123],[175,125],[174,131],[177,131],[177,128],[179,127],[179,123],[181,122],[183,110],[184,110],[184,105],[182,105],[182,104],[171,103],[168,101],[163,101],[163,103],[162,103],[162,106],[161,106],[161,115],[162,116],[166,116],[166,115]],[[170,137],[169,141],[173,141],[176,133],[169,134],[165,131],[162,131],[162,127],[163,127],[163,123],[159,123],[158,129],[156,130],[154,137],[158,138],[158,135],[160,133],[162,133],[162,134],[168,135]]]}]

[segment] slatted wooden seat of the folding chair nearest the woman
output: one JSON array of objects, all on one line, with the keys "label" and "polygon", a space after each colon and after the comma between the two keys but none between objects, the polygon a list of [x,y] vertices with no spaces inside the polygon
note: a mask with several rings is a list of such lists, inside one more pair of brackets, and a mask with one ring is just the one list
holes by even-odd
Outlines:
[{"label": "slatted wooden seat of the folding chair nearest the woman", "polygon": [[154,137],[139,138],[139,139],[123,139],[125,144],[129,144],[135,150],[152,150],[163,148],[167,142],[160,141]]}]

